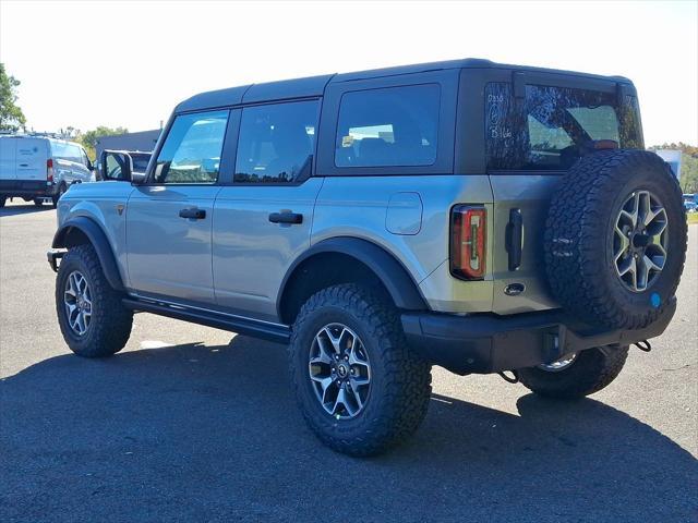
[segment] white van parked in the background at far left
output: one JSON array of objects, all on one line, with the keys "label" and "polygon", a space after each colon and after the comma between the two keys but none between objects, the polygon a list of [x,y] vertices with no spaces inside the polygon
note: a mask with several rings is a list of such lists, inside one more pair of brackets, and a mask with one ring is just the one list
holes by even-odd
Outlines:
[{"label": "white van parked in the background at far left", "polygon": [[0,207],[21,197],[53,206],[73,183],[88,182],[93,166],[80,144],[40,135],[0,135]]}]

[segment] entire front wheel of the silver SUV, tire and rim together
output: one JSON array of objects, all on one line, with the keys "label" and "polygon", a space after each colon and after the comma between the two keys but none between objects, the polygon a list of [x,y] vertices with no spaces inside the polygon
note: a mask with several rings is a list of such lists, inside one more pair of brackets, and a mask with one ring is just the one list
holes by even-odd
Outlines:
[{"label": "entire front wheel of the silver SUV, tire and rim together", "polygon": [[131,336],[133,313],[121,303],[89,244],[71,248],[56,278],[56,312],[63,339],[79,356],[119,352]]}]

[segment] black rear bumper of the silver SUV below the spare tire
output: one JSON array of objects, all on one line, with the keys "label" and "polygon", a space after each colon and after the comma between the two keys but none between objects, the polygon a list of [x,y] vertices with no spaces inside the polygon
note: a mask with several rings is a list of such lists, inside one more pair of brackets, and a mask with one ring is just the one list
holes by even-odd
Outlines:
[{"label": "black rear bumper of the silver SUV below the spare tire", "polygon": [[594,346],[628,345],[660,336],[676,311],[676,300],[650,326],[599,330],[577,325],[561,311],[513,316],[454,316],[405,313],[407,341],[422,357],[456,374],[489,374],[551,363]]}]

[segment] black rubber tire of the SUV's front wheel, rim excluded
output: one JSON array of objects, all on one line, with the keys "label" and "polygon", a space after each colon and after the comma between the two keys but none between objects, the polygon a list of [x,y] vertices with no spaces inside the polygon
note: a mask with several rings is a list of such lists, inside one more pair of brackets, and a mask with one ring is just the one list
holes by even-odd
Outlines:
[{"label": "black rubber tire of the SUV's front wheel, rim excluded", "polygon": [[[82,336],[70,327],[63,304],[65,280],[75,270],[87,279],[93,301],[91,325]],[[122,305],[122,297],[109,285],[92,245],[77,245],[65,254],[56,278],[56,313],[71,351],[83,357],[105,357],[123,349],[131,336],[133,313]]]}]

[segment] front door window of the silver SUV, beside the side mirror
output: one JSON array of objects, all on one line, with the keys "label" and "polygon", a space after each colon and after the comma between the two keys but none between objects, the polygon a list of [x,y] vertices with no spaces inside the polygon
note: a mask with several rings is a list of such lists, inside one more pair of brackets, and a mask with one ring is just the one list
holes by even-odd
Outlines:
[{"label": "front door window of the silver SUV, beside the side mirror", "polygon": [[228,111],[174,119],[155,166],[156,183],[216,183]]}]

